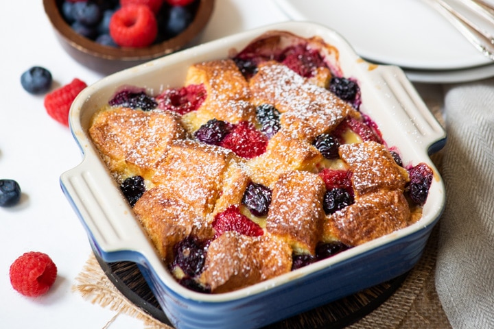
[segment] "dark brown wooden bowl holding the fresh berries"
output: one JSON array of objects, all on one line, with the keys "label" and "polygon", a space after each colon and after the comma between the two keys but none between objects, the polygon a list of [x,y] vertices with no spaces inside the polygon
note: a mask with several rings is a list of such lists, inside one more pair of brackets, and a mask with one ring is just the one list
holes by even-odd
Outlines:
[{"label": "dark brown wooden bowl holding the fresh berries", "polygon": [[116,48],[99,45],[76,33],[64,20],[60,12],[62,0],[43,0],[43,7],[65,51],[89,69],[110,74],[187,47],[202,32],[213,12],[215,0],[198,1],[196,15],[182,33],[143,48]]}]

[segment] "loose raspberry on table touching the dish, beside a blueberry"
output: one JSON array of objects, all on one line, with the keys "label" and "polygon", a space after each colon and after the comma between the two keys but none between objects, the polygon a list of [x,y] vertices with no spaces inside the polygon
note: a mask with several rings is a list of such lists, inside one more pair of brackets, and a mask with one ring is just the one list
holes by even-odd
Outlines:
[{"label": "loose raspberry on table touching the dish, beside a blueberry", "polygon": [[78,78],[45,96],[45,108],[50,117],[63,125],[69,125],[69,110],[75,97],[87,84]]}]

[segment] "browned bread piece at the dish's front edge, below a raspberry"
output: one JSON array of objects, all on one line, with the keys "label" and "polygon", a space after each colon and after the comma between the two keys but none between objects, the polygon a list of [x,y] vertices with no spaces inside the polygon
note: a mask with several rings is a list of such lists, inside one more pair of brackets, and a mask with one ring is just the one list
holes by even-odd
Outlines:
[{"label": "browned bread piece at the dish's front edge, below a raspberry", "polygon": [[209,245],[200,282],[213,293],[235,291],[292,268],[292,249],[271,236],[225,232]]}]

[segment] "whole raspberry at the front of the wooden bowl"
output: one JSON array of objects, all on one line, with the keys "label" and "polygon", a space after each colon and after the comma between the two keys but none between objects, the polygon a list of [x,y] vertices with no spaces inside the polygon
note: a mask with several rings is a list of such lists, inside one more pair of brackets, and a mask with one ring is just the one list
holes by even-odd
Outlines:
[{"label": "whole raspberry at the front of the wooden bowl", "polygon": [[148,47],[158,35],[158,23],[147,5],[129,4],[110,20],[110,36],[121,47]]}]

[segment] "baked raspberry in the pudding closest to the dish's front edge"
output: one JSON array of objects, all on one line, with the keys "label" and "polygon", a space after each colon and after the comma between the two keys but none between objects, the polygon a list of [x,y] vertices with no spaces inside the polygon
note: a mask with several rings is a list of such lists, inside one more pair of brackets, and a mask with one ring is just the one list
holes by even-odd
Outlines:
[{"label": "baked raspberry in the pudding closest to the dish's front edge", "polygon": [[213,220],[215,239],[224,232],[235,231],[248,236],[261,236],[263,229],[245,215],[240,213],[238,206],[229,206],[223,212],[218,213]]}]

